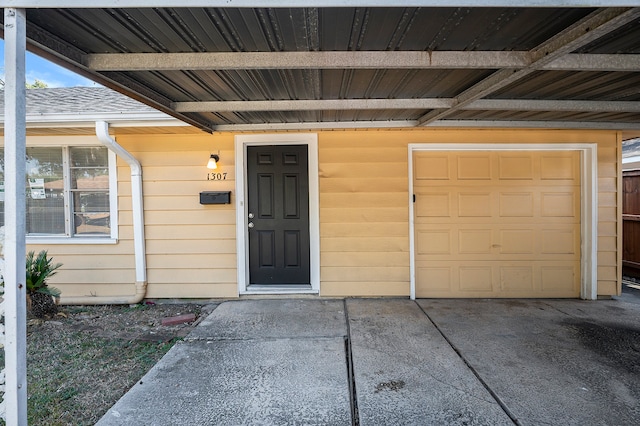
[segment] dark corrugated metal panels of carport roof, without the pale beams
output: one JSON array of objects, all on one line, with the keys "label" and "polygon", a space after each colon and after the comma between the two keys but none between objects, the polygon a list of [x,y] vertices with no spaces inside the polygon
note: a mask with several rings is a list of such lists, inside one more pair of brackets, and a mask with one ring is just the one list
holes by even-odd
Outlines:
[{"label": "dark corrugated metal panels of carport roof, without the pale beams", "polygon": [[[635,112],[466,110],[468,92],[482,90],[496,72],[510,68],[351,68],[295,66],[274,69],[145,69],[100,71],[87,54],[179,52],[521,52],[556,38],[603,12],[635,9],[570,7],[306,7],[306,8],[111,8],[28,9],[27,37],[39,52],[164,112],[204,129],[265,123],[428,121],[430,110],[345,109],[321,111],[177,112],[179,102],[448,99],[442,120],[548,120],[640,122]],[[640,54],[640,18],[612,25],[595,40],[567,53]],[[2,18],[0,18],[2,19]],[[604,19],[604,16],[603,16]],[[615,19],[615,18],[614,18]],[[602,22],[606,22],[602,21]],[[588,28],[587,32],[597,30]],[[597,31],[596,31],[597,32]],[[569,44],[569,46],[573,46]],[[634,62],[635,63],[635,62]],[[640,73],[620,70],[544,70],[512,84],[493,83],[481,98],[640,101]],[[516,70],[514,69],[514,72]],[[495,80],[495,79],[494,79]],[[474,92],[475,91],[475,92]],[[462,102],[460,108],[458,104]],[[377,106],[376,106],[377,108]],[[439,116],[438,116],[439,117]],[[640,127],[640,124],[639,126]]]}]

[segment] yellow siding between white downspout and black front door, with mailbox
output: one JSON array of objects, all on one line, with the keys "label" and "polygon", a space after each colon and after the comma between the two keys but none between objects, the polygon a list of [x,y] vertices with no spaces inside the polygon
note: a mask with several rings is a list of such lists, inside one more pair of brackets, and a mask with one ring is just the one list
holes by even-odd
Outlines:
[{"label": "yellow siding between white downspout and black front door, with mailbox", "polygon": [[[118,142],[143,167],[148,297],[236,297],[235,199],[200,204],[201,191],[235,189],[233,135],[122,136]],[[216,173],[226,179],[207,180],[209,154],[218,152]],[[128,194],[120,203],[130,209]]]}]

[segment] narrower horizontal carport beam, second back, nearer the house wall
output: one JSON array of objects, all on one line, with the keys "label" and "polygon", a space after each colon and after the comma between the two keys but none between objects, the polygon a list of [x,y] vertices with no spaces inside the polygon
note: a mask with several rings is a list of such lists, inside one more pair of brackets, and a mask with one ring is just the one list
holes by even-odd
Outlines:
[{"label": "narrower horizontal carport beam, second back, nearer the house wall", "polygon": [[[176,112],[248,112],[248,111],[332,111],[388,109],[444,109],[455,105],[455,99],[333,99],[293,101],[212,101],[175,102]],[[640,102],[625,101],[561,101],[528,99],[478,99],[461,110],[500,111],[576,111],[576,112],[640,112]]]}]

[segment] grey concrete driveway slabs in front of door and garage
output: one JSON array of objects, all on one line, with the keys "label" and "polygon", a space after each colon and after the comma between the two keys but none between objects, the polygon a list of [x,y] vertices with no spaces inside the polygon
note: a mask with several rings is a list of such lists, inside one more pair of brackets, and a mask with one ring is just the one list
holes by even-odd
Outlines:
[{"label": "grey concrete driveway slabs in front of door and garage", "polygon": [[222,303],[99,425],[632,425],[640,304]]}]

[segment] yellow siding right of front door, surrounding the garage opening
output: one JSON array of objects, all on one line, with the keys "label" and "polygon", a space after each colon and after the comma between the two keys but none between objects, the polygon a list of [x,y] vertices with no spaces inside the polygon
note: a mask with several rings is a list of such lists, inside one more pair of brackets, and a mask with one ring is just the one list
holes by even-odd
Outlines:
[{"label": "yellow siding right of front door, surrounding the garage opening", "polygon": [[[323,295],[409,294],[406,158],[410,143],[597,143],[598,294],[620,292],[621,142],[616,132],[355,130],[321,132],[318,140]],[[366,279],[343,276],[343,268],[359,271],[358,277]],[[367,269],[373,272],[364,273]],[[407,273],[399,274],[398,269]]]}]

